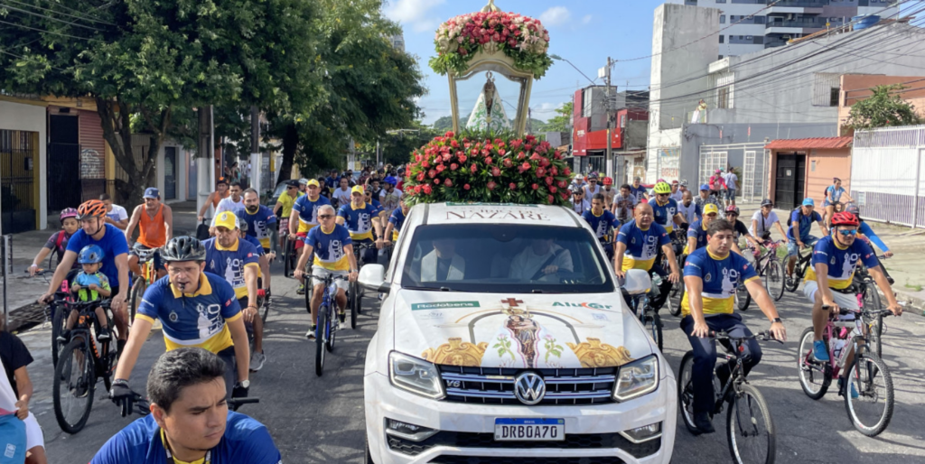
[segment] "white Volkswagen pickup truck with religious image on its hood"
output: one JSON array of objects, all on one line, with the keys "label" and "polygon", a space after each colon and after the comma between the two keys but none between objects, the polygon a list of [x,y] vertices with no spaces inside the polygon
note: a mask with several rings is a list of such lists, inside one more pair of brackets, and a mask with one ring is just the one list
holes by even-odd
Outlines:
[{"label": "white Volkswagen pickup truck with religious image on its hood", "polygon": [[674,375],[558,206],[414,206],[364,374],[366,461],[667,463]]}]

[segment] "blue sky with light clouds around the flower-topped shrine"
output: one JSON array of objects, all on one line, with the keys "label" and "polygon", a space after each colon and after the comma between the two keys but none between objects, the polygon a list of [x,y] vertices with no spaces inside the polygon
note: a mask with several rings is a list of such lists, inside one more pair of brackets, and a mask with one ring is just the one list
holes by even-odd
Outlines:
[{"label": "blue sky with light clouds around the flower-topped shrine", "polygon": [[[607,56],[617,60],[650,55],[652,51],[652,15],[663,0],[496,0],[504,11],[539,18],[549,30],[549,53],[571,61],[589,78],[598,77],[598,68]],[[429,92],[420,100],[424,121],[434,122],[450,115],[450,90],[447,78],[427,66],[434,50],[434,32],[441,22],[457,15],[472,13],[487,5],[487,0],[387,0],[383,7],[388,18],[401,23],[405,50],[418,57]],[[644,90],[649,81],[649,58],[621,63],[612,71],[613,84],[625,90]],[[601,84],[602,79],[596,83]],[[554,62],[543,79],[535,80],[530,107],[533,116],[547,120],[554,109],[572,99],[575,90],[589,85],[587,79],[568,63]],[[462,97],[461,97],[462,98]],[[462,104],[461,104],[462,105]],[[467,114],[471,108],[461,108]]]}]

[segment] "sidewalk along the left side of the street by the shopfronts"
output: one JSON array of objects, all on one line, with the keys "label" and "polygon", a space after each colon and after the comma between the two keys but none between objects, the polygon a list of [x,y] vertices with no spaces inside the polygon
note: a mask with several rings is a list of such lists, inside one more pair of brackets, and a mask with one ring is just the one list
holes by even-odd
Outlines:
[{"label": "sidewalk along the left side of the street by the shopfronts", "polygon": [[[196,202],[182,201],[170,204],[174,217],[174,236],[195,235],[196,233]],[[129,209],[129,208],[126,208]],[[13,273],[7,277],[6,299],[9,308],[9,330],[17,330],[21,324],[42,323],[44,320],[43,305],[35,303],[35,299],[48,289],[48,282],[40,276],[30,277],[26,270],[35,259],[36,253],[42,248],[45,240],[56,232],[60,226],[58,221],[49,222],[46,230],[32,230],[12,234],[13,236]],[[137,235],[138,232],[136,232]],[[47,259],[43,267],[47,265]],[[51,275],[48,275],[49,280]],[[0,280],[0,295],[3,292],[3,281]],[[0,308],[0,317],[3,309]]]}]

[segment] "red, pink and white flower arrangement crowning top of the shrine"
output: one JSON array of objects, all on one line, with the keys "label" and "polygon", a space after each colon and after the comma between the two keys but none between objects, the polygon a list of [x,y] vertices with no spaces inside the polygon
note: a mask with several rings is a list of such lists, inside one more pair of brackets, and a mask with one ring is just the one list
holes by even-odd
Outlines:
[{"label": "red, pink and white flower arrangement crowning top of the shrine", "polygon": [[516,13],[489,11],[450,18],[440,25],[434,44],[438,55],[430,59],[430,67],[440,75],[465,72],[478,51],[501,51],[512,58],[514,67],[533,72],[536,79],[552,66],[547,55],[549,31],[538,19]]}]

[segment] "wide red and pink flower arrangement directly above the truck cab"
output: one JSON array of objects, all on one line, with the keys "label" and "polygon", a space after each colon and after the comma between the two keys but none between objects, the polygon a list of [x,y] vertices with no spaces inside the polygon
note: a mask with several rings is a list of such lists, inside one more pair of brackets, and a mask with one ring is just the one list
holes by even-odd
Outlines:
[{"label": "wide red and pink flower arrangement directly above the truck cab", "polygon": [[447,132],[412,153],[404,194],[410,204],[485,201],[560,204],[569,201],[571,169],[548,141]]}]

